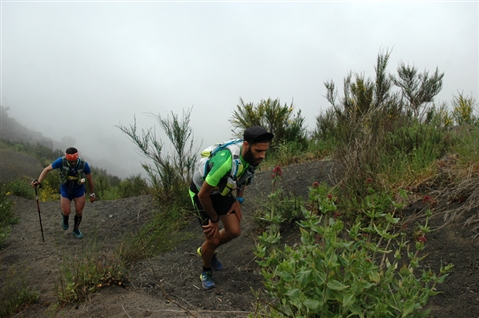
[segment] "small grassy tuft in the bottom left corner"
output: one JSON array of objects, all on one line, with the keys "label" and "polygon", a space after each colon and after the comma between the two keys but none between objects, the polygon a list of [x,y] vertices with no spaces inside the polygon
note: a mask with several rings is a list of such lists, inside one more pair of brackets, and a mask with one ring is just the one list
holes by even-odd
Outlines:
[{"label": "small grassy tuft in the bottom left corner", "polygon": [[25,270],[19,271],[15,266],[8,269],[2,278],[0,290],[0,317],[10,317],[25,306],[35,303],[40,297],[25,279]]}]

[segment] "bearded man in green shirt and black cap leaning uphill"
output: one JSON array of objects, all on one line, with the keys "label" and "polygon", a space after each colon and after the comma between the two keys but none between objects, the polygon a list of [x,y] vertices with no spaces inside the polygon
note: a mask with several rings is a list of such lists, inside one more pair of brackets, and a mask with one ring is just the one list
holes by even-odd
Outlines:
[{"label": "bearded man in green shirt and black cap leaning uphill", "polygon": [[[205,289],[216,287],[212,269],[222,268],[215,250],[241,234],[245,186],[265,159],[273,134],[254,126],[247,128],[243,137],[243,141],[214,152],[208,160],[201,160],[190,185],[191,199],[205,234],[205,242],[197,249],[203,259],[200,279]],[[223,224],[221,230],[219,221]]]}]

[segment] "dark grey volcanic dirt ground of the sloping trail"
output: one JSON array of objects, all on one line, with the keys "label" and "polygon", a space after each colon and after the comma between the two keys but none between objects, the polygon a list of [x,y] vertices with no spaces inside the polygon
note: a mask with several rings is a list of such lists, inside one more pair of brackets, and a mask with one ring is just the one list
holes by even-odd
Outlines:
[{"label": "dark grey volcanic dirt ground of the sloping trail", "polygon": [[[329,180],[330,172],[328,162],[286,167],[282,186],[304,196],[313,182]],[[15,198],[14,210],[20,222],[13,227],[6,248],[1,251],[0,281],[11,266],[28,268],[28,281],[40,291],[39,302],[15,317],[246,317],[254,311],[253,291],[262,289],[253,254],[255,206],[251,202],[271,191],[270,173],[258,173],[247,191],[242,235],[218,251],[225,268],[215,272],[217,288],[201,288],[201,260],[195,250],[202,243],[203,234],[192,219],[183,230],[186,240],[157,259],[136,264],[127,288],[104,288],[85,302],[65,306],[56,315],[48,311],[48,306],[56,302],[53,291],[62,259],[88,250],[91,244],[113,249],[124,233],[148,221],[153,202],[150,196],[143,196],[87,203],[81,224],[85,234],[82,240],[76,239],[71,229],[61,229],[58,202],[41,203],[45,235],[42,242],[35,201]],[[416,203],[407,213],[420,208],[420,203]],[[73,223],[73,219],[70,221]],[[433,226],[442,223],[439,212],[432,222]],[[454,271],[439,286],[443,294],[431,298],[436,318],[479,317],[479,239],[474,238],[477,233],[472,228],[462,224],[463,220],[458,220],[428,236],[428,257],[423,266],[437,270],[441,262],[455,264]],[[283,234],[287,240],[296,238],[294,233]]]}]

